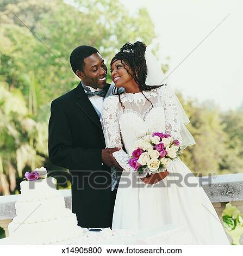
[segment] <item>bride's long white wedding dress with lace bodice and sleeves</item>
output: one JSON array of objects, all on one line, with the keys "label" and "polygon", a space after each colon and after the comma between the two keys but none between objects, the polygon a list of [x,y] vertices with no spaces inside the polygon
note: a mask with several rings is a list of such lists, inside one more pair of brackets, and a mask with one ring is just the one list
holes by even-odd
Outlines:
[{"label": "bride's long white wedding dress with lace bodice and sleeves", "polygon": [[[117,95],[104,100],[101,122],[107,148],[123,145],[126,150],[113,153],[124,169],[117,190],[113,228],[163,230],[171,225],[184,225],[186,228],[181,237],[192,234],[194,244],[229,245],[207,194],[181,160],[171,161],[167,169],[170,174],[155,185],[144,184],[129,166],[134,139],[138,136],[146,132],[166,132],[181,140],[175,97],[170,87],[160,87],[144,94],[153,108],[142,93],[121,94],[124,109]],[[178,236],[172,243],[182,244]]]}]

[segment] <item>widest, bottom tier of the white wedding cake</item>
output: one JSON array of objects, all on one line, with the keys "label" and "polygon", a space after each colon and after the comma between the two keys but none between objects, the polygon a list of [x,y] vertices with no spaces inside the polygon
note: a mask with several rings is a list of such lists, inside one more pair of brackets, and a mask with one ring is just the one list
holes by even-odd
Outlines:
[{"label": "widest, bottom tier of the white wedding cake", "polygon": [[76,214],[69,211],[65,217],[52,221],[9,224],[9,237],[17,244],[24,245],[48,245],[73,239],[82,235],[82,229],[77,225]]}]

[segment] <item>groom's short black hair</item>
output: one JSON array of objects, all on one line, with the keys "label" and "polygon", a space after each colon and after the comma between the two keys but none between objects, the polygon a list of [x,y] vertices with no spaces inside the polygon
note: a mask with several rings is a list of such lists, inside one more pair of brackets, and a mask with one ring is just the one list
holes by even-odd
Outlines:
[{"label": "groom's short black hair", "polygon": [[84,71],[84,59],[96,52],[98,52],[98,50],[89,45],[80,45],[75,48],[69,59],[74,74],[76,74],[77,70]]}]

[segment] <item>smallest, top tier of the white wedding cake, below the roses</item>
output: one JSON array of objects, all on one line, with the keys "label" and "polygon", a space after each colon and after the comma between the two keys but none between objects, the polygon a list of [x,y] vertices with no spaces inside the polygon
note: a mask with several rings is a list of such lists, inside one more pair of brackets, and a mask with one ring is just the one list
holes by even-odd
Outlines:
[{"label": "smallest, top tier of the white wedding cake, below the roses", "polygon": [[20,190],[22,196],[34,196],[37,197],[41,194],[55,191],[55,184],[57,180],[53,177],[47,179],[39,179],[34,181],[24,180],[20,183]]}]

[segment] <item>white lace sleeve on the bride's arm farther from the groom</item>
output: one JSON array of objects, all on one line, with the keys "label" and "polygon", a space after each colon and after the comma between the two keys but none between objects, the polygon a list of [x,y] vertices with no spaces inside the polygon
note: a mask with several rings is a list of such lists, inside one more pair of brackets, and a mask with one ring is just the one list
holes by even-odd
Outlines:
[{"label": "white lace sleeve on the bride's arm farther from the groom", "polygon": [[182,142],[176,99],[169,85],[164,87],[164,111],[166,133],[169,133],[173,139]]}]

